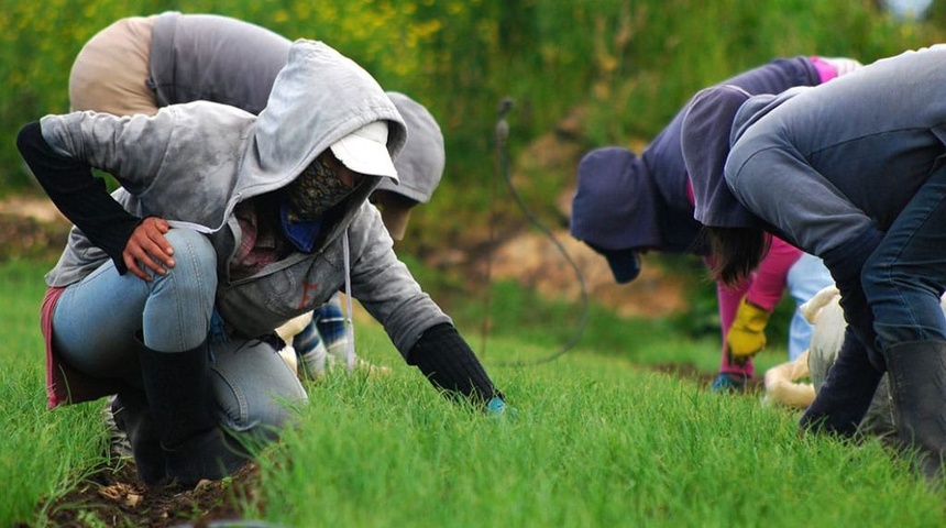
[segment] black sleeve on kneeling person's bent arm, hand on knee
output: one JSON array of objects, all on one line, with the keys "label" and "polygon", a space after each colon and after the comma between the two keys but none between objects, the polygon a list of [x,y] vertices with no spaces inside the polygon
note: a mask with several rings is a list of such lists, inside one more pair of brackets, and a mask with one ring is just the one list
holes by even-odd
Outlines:
[{"label": "black sleeve on kneeling person's bent arm, hand on knee", "polygon": [[142,219],[109,195],[105,182],[92,175],[88,164],[54,152],[38,121],[20,130],[16,147],[53,204],[124,274],[128,270],[121,254]]}]

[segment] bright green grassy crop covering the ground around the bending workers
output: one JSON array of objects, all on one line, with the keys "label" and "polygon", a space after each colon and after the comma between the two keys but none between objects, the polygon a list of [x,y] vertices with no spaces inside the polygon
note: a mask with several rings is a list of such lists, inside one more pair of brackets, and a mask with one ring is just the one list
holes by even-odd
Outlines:
[{"label": "bright green grassy crop covering the ground around the bending workers", "polygon": [[[45,410],[36,308],[47,266],[0,265],[0,479],[16,483],[0,526],[41,526],[44,505],[105,463],[99,404]],[[497,295],[502,304],[508,294]],[[517,408],[495,419],[437,396],[376,324],[360,322],[360,353],[393,372],[311,385],[300,427],[260,458],[246,518],[286,527],[946,522],[946,494],[879,442],[800,437],[795,416],[758,395],[718,396],[645,369],[698,355],[712,369],[715,344],[660,324],[624,328],[603,341],[590,332],[528,367],[501,363],[544,358],[551,339],[492,337],[486,366]]]}]

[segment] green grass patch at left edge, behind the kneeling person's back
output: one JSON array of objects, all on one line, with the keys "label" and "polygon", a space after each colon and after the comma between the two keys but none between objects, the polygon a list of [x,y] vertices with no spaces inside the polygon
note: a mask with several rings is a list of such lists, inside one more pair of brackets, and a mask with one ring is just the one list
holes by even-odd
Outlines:
[{"label": "green grass patch at left edge, behind the kneeling person's back", "polygon": [[97,409],[46,410],[38,306],[47,264],[0,266],[0,526],[31,519],[41,501],[102,462],[105,438]]}]

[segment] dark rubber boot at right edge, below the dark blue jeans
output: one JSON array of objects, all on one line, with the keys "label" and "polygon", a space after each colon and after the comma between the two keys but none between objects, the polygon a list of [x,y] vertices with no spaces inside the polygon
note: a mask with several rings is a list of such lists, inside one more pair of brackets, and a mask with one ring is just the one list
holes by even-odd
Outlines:
[{"label": "dark rubber boot at right edge, below the dark blue jeans", "polygon": [[884,350],[893,416],[903,448],[923,474],[943,481],[946,453],[946,341],[911,341]]}]

